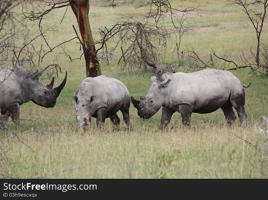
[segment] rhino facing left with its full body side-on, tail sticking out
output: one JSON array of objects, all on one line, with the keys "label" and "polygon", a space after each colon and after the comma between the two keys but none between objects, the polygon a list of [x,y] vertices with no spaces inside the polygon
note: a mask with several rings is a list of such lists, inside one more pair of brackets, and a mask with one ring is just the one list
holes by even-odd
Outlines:
[{"label": "rhino facing left with its full body side-on, tail sticking out", "polygon": [[131,96],[131,101],[142,118],[150,118],[162,106],[160,129],[169,124],[176,111],[181,114],[183,125],[190,126],[192,113],[211,113],[219,108],[231,125],[236,119],[233,107],[241,125],[247,126],[243,87],[249,86],[229,71],[208,68],[192,73],[164,73],[159,79],[151,77],[146,96],[140,96],[140,100]]}]

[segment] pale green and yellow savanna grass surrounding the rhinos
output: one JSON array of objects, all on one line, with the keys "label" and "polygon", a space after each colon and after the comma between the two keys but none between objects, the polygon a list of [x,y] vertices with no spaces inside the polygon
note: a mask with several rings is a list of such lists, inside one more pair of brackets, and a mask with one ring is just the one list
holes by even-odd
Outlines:
[{"label": "pale green and yellow savanna grass surrounding the rhinos", "polygon": [[[240,7],[225,6],[228,3],[225,0],[173,3],[179,8],[199,5],[191,19],[197,29],[183,35],[182,51],[186,50],[187,45],[194,47],[201,55],[208,54],[211,48],[219,55],[228,50],[249,54],[249,49],[256,44],[256,33]],[[142,17],[147,9],[133,7],[134,4],[115,9],[91,5],[90,25],[93,29],[100,25],[110,27],[123,16]],[[44,20],[47,26],[53,23],[58,30],[50,36],[53,44],[76,36],[72,24],[76,30],[78,27],[70,8],[59,25],[64,12],[65,9],[60,9]],[[170,21],[166,23],[171,29]],[[266,17],[261,36],[266,44],[267,27]],[[98,37],[97,33],[93,34]],[[176,54],[172,54],[174,43],[169,45],[166,60],[176,61]],[[75,42],[67,44],[66,49],[74,57],[82,53]],[[43,63],[51,63],[55,59],[53,55],[51,53]],[[120,52],[115,52],[114,56],[119,57]],[[267,178],[266,157],[253,146],[258,147],[266,139],[255,133],[254,128],[263,126],[262,118],[268,116],[268,77],[252,76],[249,69],[232,71],[244,84],[252,82],[249,88],[245,88],[249,128],[241,128],[238,119],[232,127],[228,127],[219,109],[210,114],[192,114],[191,128],[186,130],[182,128],[180,114],[175,113],[166,131],[160,132],[161,110],[150,119],[143,120],[131,104],[133,131],[126,131],[119,111],[119,132],[113,132],[109,119],[105,121],[105,131],[97,131],[96,119],[93,118],[90,131],[81,134],[76,125],[72,95],[86,78],[84,60],[69,62],[68,58],[60,56],[58,62],[62,71],[68,72],[68,78],[56,106],[44,108],[32,102],[23,104],[20,118],[33,121],[23,120],[19,125],[9,121],[8,130],[2,131],[0,137],[3,141],[10,137],[10,133],[31,129],[51,129],[53,132],[29,132],[3,144],[7,159],[1,160],[2,178]],[[149,72],[120,72],[116,60],[111,61],[109,66],[103,64],[101,70],[103,75],[122,81],[136,98],[148,91]],[[179,68],[178,71],[185,72],[186,68]],[[64,73],[56,78],[55,85],[63,78]],[[48,84],[48,77],[43,75],[41,82]]]}]

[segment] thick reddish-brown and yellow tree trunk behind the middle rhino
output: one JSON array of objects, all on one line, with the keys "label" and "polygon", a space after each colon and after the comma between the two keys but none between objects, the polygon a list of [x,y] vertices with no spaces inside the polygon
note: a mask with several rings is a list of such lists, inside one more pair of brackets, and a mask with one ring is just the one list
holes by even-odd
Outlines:
[{"label": "thick reddish-brown and yellow tree trunk behind the middle rhino", "polygon": [[76,16],[79,31],[84,44],[83,51],[86,61],[86,77],[101,75],[99,60],[96,55],[94,40],[90,28],[88,12],[89,0],[69,0],[73,13]]}]

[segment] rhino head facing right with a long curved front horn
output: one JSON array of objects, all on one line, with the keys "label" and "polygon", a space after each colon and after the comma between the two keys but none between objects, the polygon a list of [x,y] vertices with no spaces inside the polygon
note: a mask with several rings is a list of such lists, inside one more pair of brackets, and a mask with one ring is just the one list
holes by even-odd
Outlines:
[{"label": "rhino head facing right with a long curved front horn", "polygon": [[54,107],[57,97],[65,86],[67,80],[67,72],[65,73],[65,78],[62,83],[54,89],[52,89],[54,84],[54,77],[52,78],[51,83],[47,86],[43,86],[42,83],[38,80],[38,77],[42,75],[43,70],[36,71],[34,73],[26,72],[28,72],[26,68],[17,67],[15,69],[15,73],[21,79],[22,87],[26,91],[26,95],[30,96],[30,100],[39,106],[46,108]]}]

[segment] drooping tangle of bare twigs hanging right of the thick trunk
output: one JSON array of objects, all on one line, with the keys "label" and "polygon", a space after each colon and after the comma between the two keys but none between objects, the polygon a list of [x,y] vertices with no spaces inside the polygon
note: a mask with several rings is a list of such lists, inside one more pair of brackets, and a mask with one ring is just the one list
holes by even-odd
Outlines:
[{"label": "drooping tangle of bare twigs hanging right of the thick trunk", "polygon": [[[100,33],[102,39],[97,44],[103,45],[108,40],[113,40],[116,44],[114,50],[120,47],[122,52],[118,64],[122,64],[122,70],[128,71],[132,71],[135,66],[157,68],[157,62],[164,54],[170,37],[164,26],[156,27],[133,18],[123,18],[109,30],[100,29]],[[96,51],[101,48],[102,46]]]}]

